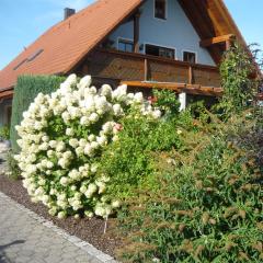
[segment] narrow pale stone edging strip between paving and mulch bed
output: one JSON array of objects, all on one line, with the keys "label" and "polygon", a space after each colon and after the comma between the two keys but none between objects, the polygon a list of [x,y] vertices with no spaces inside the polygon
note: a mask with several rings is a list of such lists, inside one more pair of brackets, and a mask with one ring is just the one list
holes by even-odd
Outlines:
[{"label": "narrow pale stone edging strip between paving and mulch bed", "polygon": [[37,222],[39,222],[43,226],[52,229],[54,232],[61,236],[62,238],[65,238],[70,243],[75,244],[76,247],[80,248],[81,250],[83,250],[89,255],[100,260],[102,263],[117,263],[117,261],[115,261],[111,255],[103,253],[102,251],[98,250],[92,244],[81,240],[80,238],[67,233],[61,228],[55,226],[52,221],[46,220],[44,217],[38,216],[36,213],[34,213],[34,211],[27,209],[26,207],[24,207],[23,205],[16,203],[14,199],[10,198],[9,196],[3,194],[2,192],[0,192],[0,197],[5,198],[7,201],[13,203],[20,210],[26,213],[28,216],[31,216]]}]

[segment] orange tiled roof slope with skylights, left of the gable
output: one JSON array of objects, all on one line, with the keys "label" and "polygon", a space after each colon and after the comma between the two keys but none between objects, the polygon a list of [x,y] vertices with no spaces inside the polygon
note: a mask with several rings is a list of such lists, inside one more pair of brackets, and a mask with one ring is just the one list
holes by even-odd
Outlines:
[{"label": "orange tiled roof slope with skylights, left of the gable", "polygon": [[[0,91],[13,87],[19,75],[69,72],[141,2],[99,0],[56,24],[0,71]],[[35,59],[24,61],[37,53]]]}]

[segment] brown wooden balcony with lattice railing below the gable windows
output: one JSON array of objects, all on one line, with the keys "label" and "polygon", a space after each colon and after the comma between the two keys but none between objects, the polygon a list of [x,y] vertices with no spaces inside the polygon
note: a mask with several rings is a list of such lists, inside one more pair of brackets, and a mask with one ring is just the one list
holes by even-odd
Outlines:
[{"label": "brown wooden balcony with lattice railing below the gable windows", "polygon": [[[118,50],[94,50],[79,71],[94,78],[127,82],[134,87],[138,83],[144,83],[141,87],[145,88],[145,83],[152,83],[148,88],[152,88],[155,83],[159,87],[162,83],[163,87],[168,87],[170,83],[173,87],[178,84],[180,89],[183,85],[188,89],[204,88],[211,91],[220,89],[220,75],[217,67]],[[210,94],[214,95],[213,92]]]}]

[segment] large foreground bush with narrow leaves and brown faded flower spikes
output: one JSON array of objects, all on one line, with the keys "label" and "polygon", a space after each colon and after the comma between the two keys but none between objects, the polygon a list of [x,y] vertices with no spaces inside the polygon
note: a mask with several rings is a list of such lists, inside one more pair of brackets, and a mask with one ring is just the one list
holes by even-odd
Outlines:
[{"label": "large foreground bush with narrow leaves and brown faded flower spikes", "polygon": [[236,116],[183,134],[159,155],[158,184],[119,215],[123,261],[262,262],[263,176],[243,145],[254,123]]}]

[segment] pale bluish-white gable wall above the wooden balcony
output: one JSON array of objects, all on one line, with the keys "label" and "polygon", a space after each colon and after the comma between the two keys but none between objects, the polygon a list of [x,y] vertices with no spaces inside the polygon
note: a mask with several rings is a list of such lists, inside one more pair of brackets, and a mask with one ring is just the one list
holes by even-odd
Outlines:
[{"label": "pale bluish-white gable wall above the wooden balcony", "polygon": [[[147,0],[141,7],[140,44],[153,44],[175,49],[175,58],[183,60],[183,50],[196,53],[197,64],[215,66],[209,53],[199,46],[199,36],[179,4],[178,0],[167,0],[167,20],[156,19],[153,15],[155,0]],[[117,48],[118,37],[132,39],[134,37],[133,21],[121,25],[110,38]],[[140,50],[145,53],[145,50]]]}]

